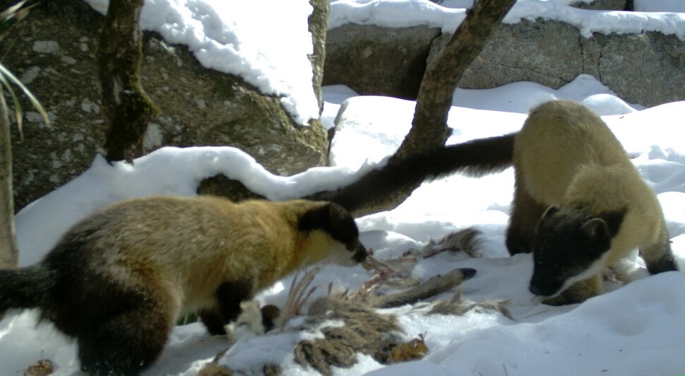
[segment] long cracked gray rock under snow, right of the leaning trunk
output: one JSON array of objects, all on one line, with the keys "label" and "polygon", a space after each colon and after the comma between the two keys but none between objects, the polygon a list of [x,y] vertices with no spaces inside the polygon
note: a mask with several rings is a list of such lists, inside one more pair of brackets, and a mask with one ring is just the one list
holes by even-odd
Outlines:
[{"label": "long cracked gray rock under snow, right of the leaning trunk", "polygon": [[[429,61],[449,37],[436,39]],[[653,107],[685,100],[684,64],[685,42],[674,35],[585,38],[571,25],[539,18],[501,25],[458,86],[485,89],[532,81],[559,88],[578,74],[590,74],[620,98]]]}]

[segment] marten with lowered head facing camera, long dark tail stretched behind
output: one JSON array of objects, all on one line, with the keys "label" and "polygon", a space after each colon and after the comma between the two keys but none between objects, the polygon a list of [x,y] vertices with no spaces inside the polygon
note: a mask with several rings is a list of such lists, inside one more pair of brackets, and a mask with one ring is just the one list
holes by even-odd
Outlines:
[{"label": "marten with lowered head facing camera, long dark tail stretched behind", "polygon": [[601,293],[600,272],[636,247],[650,273],[677,270],[654,192],[602,119],[569,100],[536,107],[518,133],[410,155],[326,199],[353,211],[404,184],[511,165],[516,187],[506,246],[511,254],[533,252],[530,290],[556,297],[547,303]]}]

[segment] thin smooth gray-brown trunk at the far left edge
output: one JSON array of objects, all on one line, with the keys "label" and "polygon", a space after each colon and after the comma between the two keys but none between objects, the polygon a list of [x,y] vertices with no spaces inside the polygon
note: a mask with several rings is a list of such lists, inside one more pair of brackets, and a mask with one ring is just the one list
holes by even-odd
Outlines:
[{"label": "thin smooth gray-brown trunk at the far left edge", "polygon": [[12,142],[5,96],[0,86],[0,268],[19,266],[12,193]]}]

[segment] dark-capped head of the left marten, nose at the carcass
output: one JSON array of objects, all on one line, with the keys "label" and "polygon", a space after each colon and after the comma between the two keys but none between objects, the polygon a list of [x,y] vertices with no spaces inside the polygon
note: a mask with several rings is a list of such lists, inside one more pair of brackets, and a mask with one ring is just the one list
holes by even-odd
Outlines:
[{"label": "dark-capped head of the left marten, nose at the carcass", "polygon": [[325,242],[318,240],[322,236],[343,245],[347,252],[346,255],[336,254],[334,249],[316,251],[317,253],[332,252],[330,257],[335,262],[340,264],[357,264],[367,259],[367,249],[359,242],[359,229],[355,223],[355,218],[352,218],[350,213],[338,204],[325,202],[321,206],[306,211],[299,218],[297,226],[298,230],[301,233],[307,234],[312,241],[316,240],[316,242],[322,243],[321,245],[316,245],[316,247],[333,247],[330,244],[324,245],[323,243]]}]

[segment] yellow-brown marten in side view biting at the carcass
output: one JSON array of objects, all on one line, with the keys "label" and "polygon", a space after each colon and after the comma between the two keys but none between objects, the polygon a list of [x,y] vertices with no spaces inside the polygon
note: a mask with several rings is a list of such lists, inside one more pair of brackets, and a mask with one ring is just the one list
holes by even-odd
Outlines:
[{"label": "yellow-brown marten in side view biting at the carcass", "polygon": [[362,262],[358,235],[323,201],[131,199],[74,225],[42,262],[0,270],[0,313],[37,308],[76,338],[83,370],[130,375],[157,359],[182,313],[225,333],[242,300],[304,264]]}]

